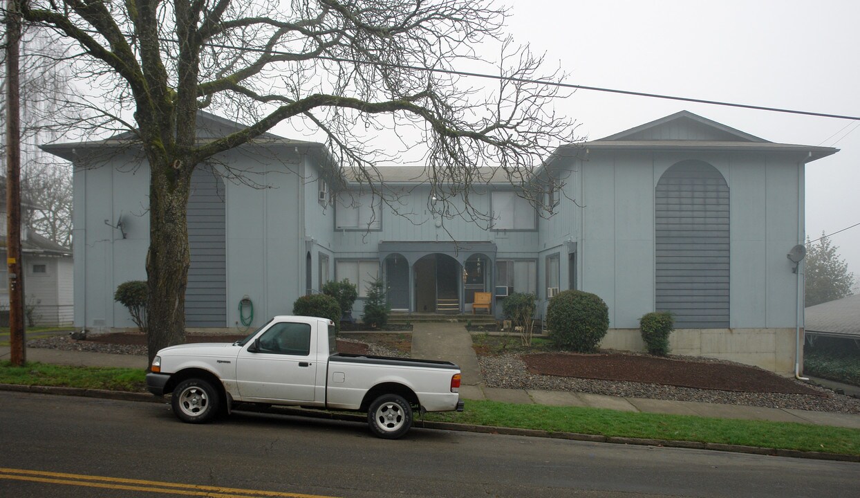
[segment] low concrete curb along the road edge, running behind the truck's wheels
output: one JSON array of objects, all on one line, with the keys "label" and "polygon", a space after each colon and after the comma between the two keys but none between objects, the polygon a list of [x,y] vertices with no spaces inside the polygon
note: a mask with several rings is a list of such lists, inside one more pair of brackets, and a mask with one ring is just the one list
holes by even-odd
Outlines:
[{"label": "low concrete curb along the road edge, running behind the truck's wheels", "polygon": [[[74,387],[55,387],[45,385],[0,384],[0,390],[30,392],[38,394],[54,394],[61,396],[100,397],[120,401],[135,401],[143,403],[166,403],[165,398],[155,397],[143,392],[125,392],[120,390],[78,389]],[[298,415],[317,419],[336,421],[366,421],[365,415],[355,415],[339,412],[327,412],[316,409],[301,409],[294,407],[271,407],[268,409],[242,409],[255,413],[272,413],[280,415]],[[616,445],[662,446],[667,448],[684,448],[694,450],[710,450],[716,452],[747,453],[753,455],[768,455],[773,457],[812,458],[815,460],[833,460],[838,462],[860,463],[860,455],[843,455],[826,452],[801,452],[777,448],[762,448],[759,446],[724,445],[720,443],[702,443],[697,441],[648,440],[642,438],[622,438],[581,433],[554,433],[536,429],[519,429],[513,427],[476,426],[453,422],[413,421],[413,427],[458,431],[470,433],[501,434],[508,436],[525,436],[531,438],[551,438],[557,440],[587,441],[592,443],[610,443]]]}]

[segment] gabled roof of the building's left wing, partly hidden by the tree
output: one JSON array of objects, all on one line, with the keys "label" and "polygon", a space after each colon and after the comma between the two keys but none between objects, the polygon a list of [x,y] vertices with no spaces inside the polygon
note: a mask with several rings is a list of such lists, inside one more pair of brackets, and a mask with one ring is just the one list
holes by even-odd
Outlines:
[{"label": "gabled roof of the building's left wing, partly hidden by the tree", "polygon": [[[236,121],[227,120],[204,111],[197,111],[197,137],[198,143],[200,144],[206,144],[207,142],[211,142],[218,138],[223,138],[232,132],[238,132],[244,128],[244,125],[237,123]],[[42,145],[41,148],[55,156],[72,161],[75,154],[81,155],[84,153],[97,153],[100,157],[109,157],[114,155],[119,149],[135,147],[138,144],[138,137],[134,132],[122,132],[111,138],[104,138],[101,140],[69,142],[65,144],[45,144]],[[302,151],[307,151],[311,148],[324,148],[323,144],[319,144],[317,142],[292,140],[290,138],[279,137],[273,133],[263,133],[254,140],[251,140],[249,144],[298,147],[302,149]]]}]

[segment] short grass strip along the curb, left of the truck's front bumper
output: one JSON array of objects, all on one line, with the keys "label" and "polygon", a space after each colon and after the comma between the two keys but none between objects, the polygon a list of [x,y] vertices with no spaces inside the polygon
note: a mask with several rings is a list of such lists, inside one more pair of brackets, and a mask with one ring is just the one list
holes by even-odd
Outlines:
[{"label": "short grass strip along the curb, left of the truck's front bumper", "polygon": [[64,366],[36,362],[13,366],[9,361],[3,361],[0,363],[0,384],[144,392],[146,372],[134,368]]}]

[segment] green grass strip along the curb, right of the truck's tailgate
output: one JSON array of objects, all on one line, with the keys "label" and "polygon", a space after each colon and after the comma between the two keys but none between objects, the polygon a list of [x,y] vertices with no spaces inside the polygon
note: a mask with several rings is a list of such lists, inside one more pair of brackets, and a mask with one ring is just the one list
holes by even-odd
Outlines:
[{"label": "green grass strip along the curb, right of the truck's tailgate", "polygon": [[428,421],[536,429],[550,433],[697,441],[860,455],[860,429],[791,422],[728,420],[493,401],[469,401],[462,413],[430,413],[425,418]]}]

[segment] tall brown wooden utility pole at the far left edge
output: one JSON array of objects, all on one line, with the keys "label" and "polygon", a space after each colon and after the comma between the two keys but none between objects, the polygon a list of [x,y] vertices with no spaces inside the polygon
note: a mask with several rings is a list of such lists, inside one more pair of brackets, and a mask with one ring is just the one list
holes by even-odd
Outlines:
[{"label": "tall brown wooden utility pole at the far left edge", "polygon": [[21,266],[21,109],[19,102],[20,0],[6,10],[6,266],[9,274],[9,349],[12,365],[27,362],[24,278]]}]

